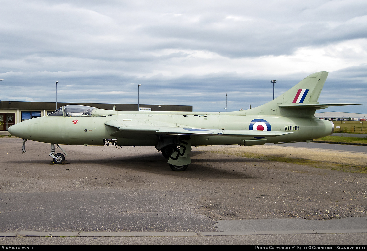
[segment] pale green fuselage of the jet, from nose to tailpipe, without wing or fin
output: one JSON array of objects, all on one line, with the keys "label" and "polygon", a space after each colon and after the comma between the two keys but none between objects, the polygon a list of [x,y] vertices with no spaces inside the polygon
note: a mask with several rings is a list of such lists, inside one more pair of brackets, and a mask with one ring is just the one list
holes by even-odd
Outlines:
[{"label": "pale green fuselage of the jet, from nose to tailpipe, without wing or fin", "polygon": [[[249,111],[249,110],[247,110]],[[12,134],[19,138],[46,143],[65,145],[104,145],[105,139],[117,139],[118,145],[157,146],[156,134],[142,131],[114,131],[105,122],[119,120],[121,126],[131,125],[174,125],[178,127],[206,128],[216,130],[249,130],[254,119],[264,119],[271,125],[271,131],[290,131],[291,134],[265,137],[266,143],[306,141],[330,135],[333,124],[314,116],[246,116],[245,111],[237,112],[131,112],[94,109],[92,116],[58,117],[46,116],[23,121],[13,125]],[[15,130],[16,129],[16,130]],[[112,134],[112,135],[110,135]],[[171,136],[172,137],[172,136]],[[176,135],[175,135],[176,137]],[[178,137],[178,136],[177,136]],[[232,145],[254,137],[226,135],[190,135],[191,145]]]}]

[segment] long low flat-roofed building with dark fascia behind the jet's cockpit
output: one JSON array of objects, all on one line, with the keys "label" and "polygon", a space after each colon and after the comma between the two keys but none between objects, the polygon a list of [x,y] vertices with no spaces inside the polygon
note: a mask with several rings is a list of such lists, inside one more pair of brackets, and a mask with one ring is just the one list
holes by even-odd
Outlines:
[{"label": "long low flat-roofed building with dark fascia behind the jet's cockpit", "polygon": [[[106,110],[113,110],[113,106],[116,106],[116,110],[138,111],[138,105],[134,104],[57,103],[58,108],[66,105],[85,105]],[[192,112],[192,105],[140,105],[140,108],[153,112]],[[0,131],[7,131],[20,121],[47,116],[54,110],[55,102],[0,101]]]}]

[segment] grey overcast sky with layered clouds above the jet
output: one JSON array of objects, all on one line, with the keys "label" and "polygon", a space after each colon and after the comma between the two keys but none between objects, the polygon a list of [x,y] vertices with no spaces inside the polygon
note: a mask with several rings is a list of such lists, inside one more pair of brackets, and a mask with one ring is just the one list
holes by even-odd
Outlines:
[{"label": "grey overcast sky with layered clouds above the jet", "polygon": [[[318,71],[367,113],[365,0],[0,0],[0,99],[248,109]],[[320,111],[320,112],[321,112]]]}]

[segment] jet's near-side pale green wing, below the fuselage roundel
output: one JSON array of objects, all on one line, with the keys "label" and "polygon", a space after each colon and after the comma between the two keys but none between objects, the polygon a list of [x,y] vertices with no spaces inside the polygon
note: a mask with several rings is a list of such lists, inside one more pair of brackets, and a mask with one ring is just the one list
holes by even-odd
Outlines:
[{"label": "jet's near-side pale green wing, below the fuselage roundel", "polygon": [[162,135],[219,135],[219,136],[242,136],[242,137],[275,137],[292,132],[277,131],[252,131],[252,130],[218,130],[206,128],[190,128],[178,126],[157,126],[157,125],[121,125],[115,121],[107,121],[105,124],[116,128],[111,135],[115,136],[119,133],[145,133],[145,134],[162,134]]}]

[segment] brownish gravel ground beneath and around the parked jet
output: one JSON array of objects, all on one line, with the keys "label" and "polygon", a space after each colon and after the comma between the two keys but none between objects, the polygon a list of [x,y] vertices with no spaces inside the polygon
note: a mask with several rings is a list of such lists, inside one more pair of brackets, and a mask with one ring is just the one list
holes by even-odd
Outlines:
[{"label": "brownish gravel ground beneath and around the parked jet", "polygon": [[[367,174],[331,170],[335,165],[364,167],[367,154],[277,145],[201,146],[193,148],[186,171],[172,172],[154,147],[66,145],[62,147],[70,164],[50,165],[49,144],[28,141],[27,152],[21,154],[21,142],[0,138],[0,196],[100,189],[182,191],[182,196],[190,194],[184,210],[214,221],[367,216]],[[253,157],[246,157],[249,154]],[[255,158],[259,156],[316,164]],[[328,169],[314,167],[320,163]]]}]

